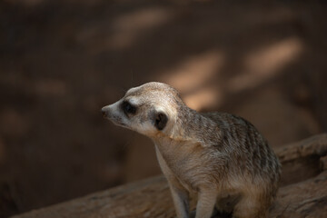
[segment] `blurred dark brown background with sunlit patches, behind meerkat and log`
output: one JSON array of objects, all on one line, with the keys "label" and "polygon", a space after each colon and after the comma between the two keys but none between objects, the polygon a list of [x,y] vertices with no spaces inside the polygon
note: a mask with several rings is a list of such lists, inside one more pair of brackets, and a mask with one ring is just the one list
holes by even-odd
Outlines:
[{"label": "blurred dark brown background with sunlit patches, behind meerkat and log", "polygon": [[173,85],[274,148],[327,130],[325,1],[0,0],[0,217],[160,173],[104,120],[130,87]]}]

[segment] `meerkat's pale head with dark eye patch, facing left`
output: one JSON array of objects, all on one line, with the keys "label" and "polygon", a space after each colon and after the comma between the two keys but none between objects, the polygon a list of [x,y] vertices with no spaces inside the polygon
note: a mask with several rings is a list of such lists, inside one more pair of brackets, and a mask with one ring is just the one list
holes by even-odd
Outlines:
[{"label": "meerkat's pale head with dark eye patch, facing left", "polygon": [[182,104],[173,87],[152,82],[131,88],[118,102],[104,106],[102,113],[114,124],[140,134],[170,136]]}]

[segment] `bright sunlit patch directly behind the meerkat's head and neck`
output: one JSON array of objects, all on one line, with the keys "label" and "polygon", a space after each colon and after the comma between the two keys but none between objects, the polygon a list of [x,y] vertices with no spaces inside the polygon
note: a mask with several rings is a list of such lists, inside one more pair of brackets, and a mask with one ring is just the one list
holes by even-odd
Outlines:
[{"label": "bright sunlit patch directly behind the meerkat's head and neck", "polygon": [[224,56],[218,51],[194,55],[161,73],[160,81],[175,87],[183,94],[186,104],[200,110],[219,104],[219,87],[210,84],[219,75],[223,63]]}]

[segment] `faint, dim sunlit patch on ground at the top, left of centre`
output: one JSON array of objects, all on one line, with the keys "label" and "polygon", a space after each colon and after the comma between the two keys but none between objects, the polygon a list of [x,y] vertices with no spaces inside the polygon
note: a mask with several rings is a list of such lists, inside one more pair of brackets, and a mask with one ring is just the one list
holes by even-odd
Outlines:
[{"label": "faint, dim sunlit patch on ground at the top, left of centre", "polygon": [[121,15],[115,19],[112,37],[108,44],[112,49],[126,48],[134,43],[144,31],[163,25],[172,15],[163,8],[152,7]]}]

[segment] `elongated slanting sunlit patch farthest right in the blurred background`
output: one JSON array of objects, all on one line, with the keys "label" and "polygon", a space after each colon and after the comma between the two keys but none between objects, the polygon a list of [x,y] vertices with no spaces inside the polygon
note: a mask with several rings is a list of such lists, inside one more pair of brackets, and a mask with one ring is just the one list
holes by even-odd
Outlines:
[{"label": "elongated slanting sunlit patch farthest right in the blurred background", "polygon": [[233,77],[228,88],[238,92],[267,81],[281,73],[282,67],[292,63],[302,50],[302,41],[292,37],[248,54],[244,59],[244,73]]}]

